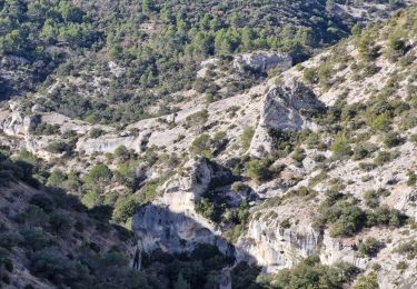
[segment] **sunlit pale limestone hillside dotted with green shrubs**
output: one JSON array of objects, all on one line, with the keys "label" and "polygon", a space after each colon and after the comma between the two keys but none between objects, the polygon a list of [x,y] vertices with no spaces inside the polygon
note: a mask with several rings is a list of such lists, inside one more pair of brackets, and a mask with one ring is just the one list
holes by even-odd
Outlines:
[{"label": "sunlit pale limestone hillside dotted with green shrubs", "polygon": [[[102,9],[98,4],[97,13]],[[367,16],[337,3],[332,9]],[[67,81],[92,93],[103,88],[83,88],[82,78],[66,76],[3,103],[1,143],[16,161],[32,163],[32,177],[18,180],[81,200],[81,211],[67,212],[73,229],[64,233],[91,218],[132,230],[133,245],[116,229],[106,232],[111,238],[92,233],[91,225],[76,233],[101,245],[99,260],[117,245],[118,252],[130,252],[120,260],[129,267],[137,250],[140,273],[123,267],[115,286],[128,275],[129,282],[150,288],[414,288],[416,23],[411,7],[388,21],[355,26],[351,37],[299,63],[291,51],[207,56],[192,71],[195,87],[172,92],[168,113],[123,126],[51,109],[59,101],[53,91]],[[122,62],[107,64],[116,78],[126,72]],[[221,89],[247,79],[236,91]],[[4,186],[3,207],[11,210],[2,215],[6,232],[37,227],[58,238],[49,216],[58,212],[33,203],[41,192],[16,181]],[[6,205],[17,190],[28,209]],[[19,221],[24,210],[48,218]],[[72,252],[71,240],[56,240],[66,252],[60,258],[80,260],[95,282],[99,269]],[[16,273],[30,279],[24,283],[80,279],[37,271],[40,249],[31,248],[31,256],[24,241],[17,243],[4,252],[11,252],[9,263],[19,263]]]}]

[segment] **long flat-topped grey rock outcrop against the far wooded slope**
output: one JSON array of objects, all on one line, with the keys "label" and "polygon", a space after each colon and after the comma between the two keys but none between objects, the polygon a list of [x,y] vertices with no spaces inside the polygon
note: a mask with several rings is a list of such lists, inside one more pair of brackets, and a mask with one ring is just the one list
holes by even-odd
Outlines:
[{"label": "long flat-topped grey rock outcrop against the far wooded slope", "polygon": [[254,52],[241,54],[234,60],[234,68],[239,72],[246,69],[266,73],[271,69],[287,70],[292,67],[292,58],[288,53]]}]

